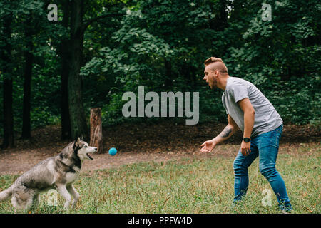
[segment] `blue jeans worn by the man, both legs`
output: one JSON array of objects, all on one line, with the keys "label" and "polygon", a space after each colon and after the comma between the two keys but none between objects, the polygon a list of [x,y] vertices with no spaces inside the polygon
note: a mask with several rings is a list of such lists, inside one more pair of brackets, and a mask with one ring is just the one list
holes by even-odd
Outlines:
[{"label": "blue jeans worn by the man, both legs", "polygon": [[260,173],[270,182],[272,190],[277,196],[280,209],[291,210],[290,199],[287,196],[285,182],[275,168],[279,142],[282,135],[283,125],[271,130],[270,132],[260,134],[251,139],[251,152],[248,156],[242,155],[241,150],[235,157],[233,168],[235,175],[234,202],[238,202],[248,190],[248,167],[256,157],[259,157]]}]

